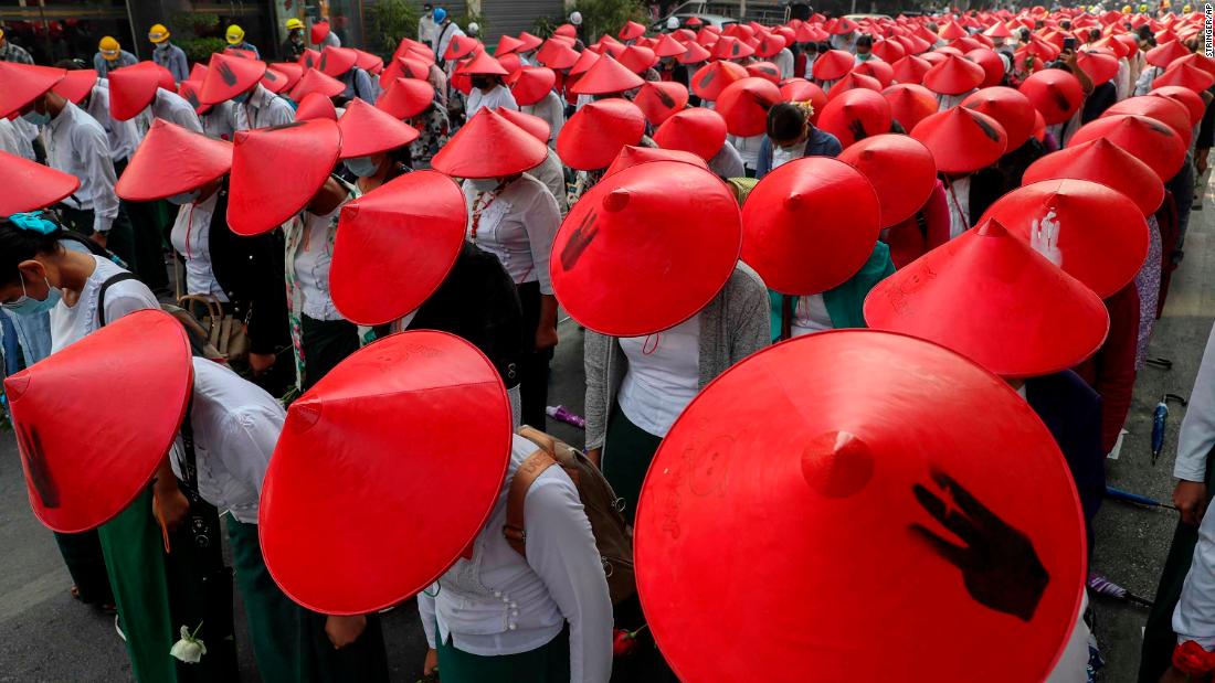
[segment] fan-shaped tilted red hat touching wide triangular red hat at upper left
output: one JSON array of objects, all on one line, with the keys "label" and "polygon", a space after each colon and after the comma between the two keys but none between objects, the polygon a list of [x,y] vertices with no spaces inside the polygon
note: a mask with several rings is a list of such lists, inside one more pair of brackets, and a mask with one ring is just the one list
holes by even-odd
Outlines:
[{"label": "fan-shaped tilted red hat touching wide triangular red hat at upper left", "polygon": [[[233,136],[228,227],[238,235],[277,228],[298,214],[338,163],[338,124],[315,119]],[[290,173],[283,173],[290,169]]]}]

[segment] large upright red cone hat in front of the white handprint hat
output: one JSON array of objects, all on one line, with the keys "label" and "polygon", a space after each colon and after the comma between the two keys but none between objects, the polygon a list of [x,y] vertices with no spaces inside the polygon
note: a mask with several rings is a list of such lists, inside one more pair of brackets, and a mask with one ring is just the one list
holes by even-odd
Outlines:
[{"label": "large upright red cone hat in front of the white handprint hat", "polygon": [[939,343],[1005,377],[1073,368],[1109,331],[1092,290],[998,221],[981,222],[878,283],[865,298],[865,323]]}]

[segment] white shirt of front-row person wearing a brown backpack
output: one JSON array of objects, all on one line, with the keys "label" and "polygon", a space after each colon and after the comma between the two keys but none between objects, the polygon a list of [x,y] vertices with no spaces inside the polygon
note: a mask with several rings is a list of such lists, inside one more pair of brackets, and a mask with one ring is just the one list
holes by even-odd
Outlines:
[{"label": "white shirt of front-row person wearing a brown backpack", "polygon": [[[536,445],[514,437],[497,505],[473,542],[436,585],[418,593],[426,642],[462,651],[509,655],[535,650],[570,624],[570,681],[606,683],[611,676],[612,615],[608,580],[573,482],[549,467],[527,491],[524,559],[507,543],[507,490]],[[437,633],[435,626],[437,624]]]}]

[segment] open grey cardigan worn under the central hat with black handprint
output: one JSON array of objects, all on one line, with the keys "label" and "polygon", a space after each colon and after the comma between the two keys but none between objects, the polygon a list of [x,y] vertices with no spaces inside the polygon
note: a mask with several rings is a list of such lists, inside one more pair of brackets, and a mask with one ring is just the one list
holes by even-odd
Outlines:
[{"label": "open grey cardigan worn under the central hat with black handprint", "polygon": [[[730,365],[768,346],[768,289],[739,261],[730,279],[700,312],[700,388]],[[587,330],[587,450],[601,448],[628,359],[616,337]]]}]

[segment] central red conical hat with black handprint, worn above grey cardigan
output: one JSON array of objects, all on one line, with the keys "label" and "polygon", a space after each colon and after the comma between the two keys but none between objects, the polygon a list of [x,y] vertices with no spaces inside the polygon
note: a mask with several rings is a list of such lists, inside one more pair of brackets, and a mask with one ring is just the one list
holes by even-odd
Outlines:
[{"label": "central red conical hat with black handprint, worn above grey cardigan", "polygon": [[570,207],[549,273],[558,301],[584,328],[649,335],[712,301],[741,243],[739,204],[720,178],[652,161],[601,180]]}]

